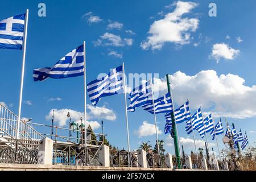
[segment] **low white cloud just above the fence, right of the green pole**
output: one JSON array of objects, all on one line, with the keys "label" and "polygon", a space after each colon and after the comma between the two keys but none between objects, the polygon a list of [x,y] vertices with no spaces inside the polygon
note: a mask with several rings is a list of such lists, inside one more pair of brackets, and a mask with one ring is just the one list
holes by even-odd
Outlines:
[{"label": "low white cloud just above the fence, right of the green pole", "polygon": [[[194,140],[193,139],[190,139],[190,138],[183,138],[183,137],[180,137],[179,139],[179,142],[180,142],[180,145],[184,146],[184,148],[195,148],[195,143],[194,143]],[[205,141],[204,140],[195,140],[196,142],[196,147],[199,148],[199,147],[205,147]],[[174,146],[174,139],[168,135],[168,137],[166,138],[166,145],[167,146]],[[214,143],[208,143],[209,147],[213,147],[215,146]]]}]

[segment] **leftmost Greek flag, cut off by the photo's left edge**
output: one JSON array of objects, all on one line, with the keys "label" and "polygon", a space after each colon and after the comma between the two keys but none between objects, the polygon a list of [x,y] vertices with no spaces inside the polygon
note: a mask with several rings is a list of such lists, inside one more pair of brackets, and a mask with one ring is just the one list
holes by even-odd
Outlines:
[{"label": "leftmost Greek flag, cut off by the photo's left edge", "polygon": [[22,49],[26,14],[20,14],[0,22],[0,48]]}]

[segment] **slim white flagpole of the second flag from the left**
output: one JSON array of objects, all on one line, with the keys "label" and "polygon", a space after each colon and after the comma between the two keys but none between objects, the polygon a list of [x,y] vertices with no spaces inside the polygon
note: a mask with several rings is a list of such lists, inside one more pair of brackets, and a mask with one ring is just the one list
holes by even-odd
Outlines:
[{"label": "slim white flagpole of the second flag from the left", "polygon": [[[85,57],[85,41],[84,41],[84,147],[85,147],[85,153],[86,153],[86,147],[87,147],[87,125],[86,125],[86,57]],[[86,154],[85,154],[85,162],[86,162]]]}]

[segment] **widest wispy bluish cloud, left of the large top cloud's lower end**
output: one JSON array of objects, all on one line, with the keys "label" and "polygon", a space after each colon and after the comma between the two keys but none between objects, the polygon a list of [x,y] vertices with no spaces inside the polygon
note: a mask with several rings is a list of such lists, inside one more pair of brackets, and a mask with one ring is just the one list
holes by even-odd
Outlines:
[{"label": "widest wispy bluish cloud, left of the large top cloud's lower end", "polygon": [[133,44],[133,39],[122,39],[119,35],[114,35],[106,32],[101,35],[100,38],[94,42],[94,46],[114,46],[123,47],[131,46]]}]

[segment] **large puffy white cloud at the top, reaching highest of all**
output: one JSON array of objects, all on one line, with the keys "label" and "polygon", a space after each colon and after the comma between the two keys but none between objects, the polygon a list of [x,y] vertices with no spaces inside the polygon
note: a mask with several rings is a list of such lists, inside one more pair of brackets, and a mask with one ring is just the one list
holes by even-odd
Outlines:
[{"label": "large puffy white cloud at the top, reaching highest of all", "polygon": [[150,36],[141,43],[142,49],[161,49],[164,43],[170,42],[179,45],[189,43],[191,32],[195,32],[199,26],[197,18],[182,18],[184,14],[190,13],[197,3],[178,1],[176,9],[168,13],[163,19],[155,21],[150,26]]}]

